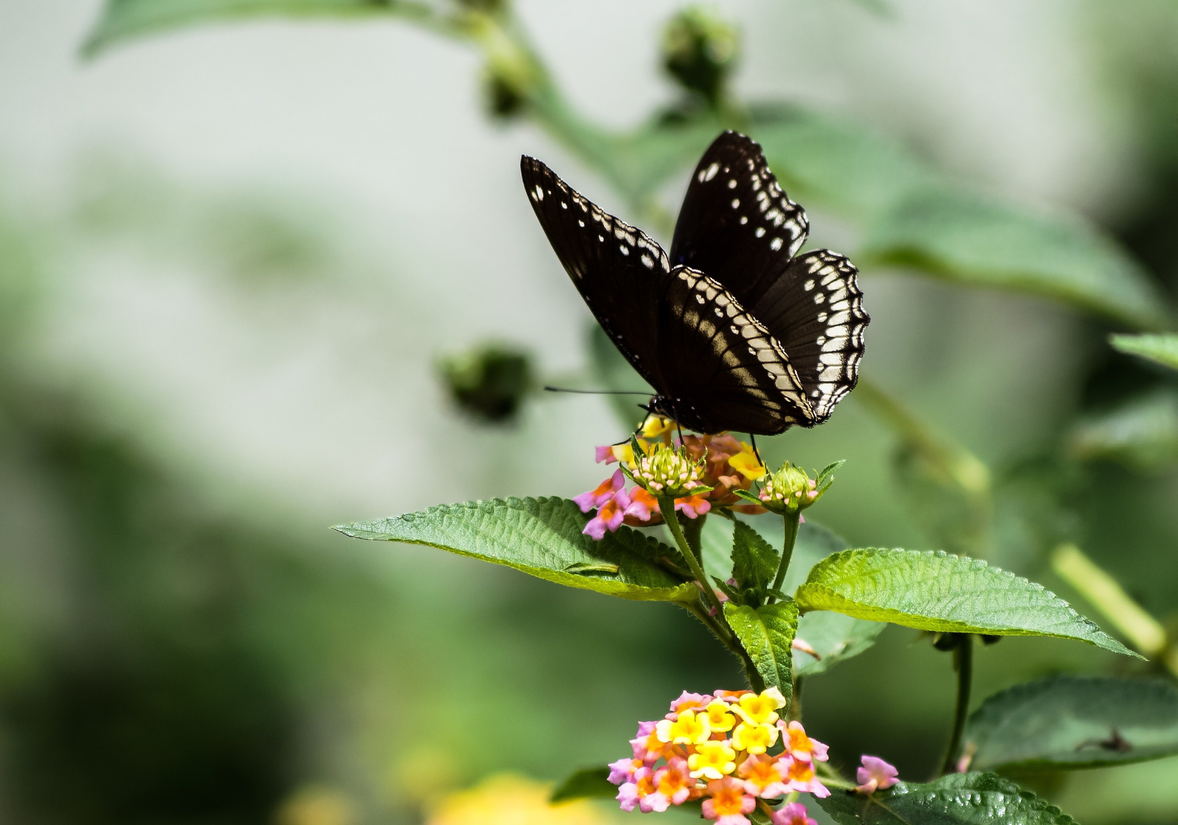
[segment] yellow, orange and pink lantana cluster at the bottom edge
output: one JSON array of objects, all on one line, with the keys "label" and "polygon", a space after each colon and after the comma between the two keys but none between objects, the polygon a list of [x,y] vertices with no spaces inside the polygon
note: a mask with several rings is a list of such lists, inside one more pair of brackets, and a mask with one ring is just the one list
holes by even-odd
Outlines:
[{"label": "yellow, orange and pink lantana cluster at the bottom edge", "polygon": [[622,810],[662,812],[700,799],[716,825],[750,825],[757,806],[774,825],[812,825],[805,805],[775,805],[786,794],[830,794],[814,773],[827,747],[801,722],[781,719],[785,705],[776,687],[684,691],[663,719],[638,725],[634,755],[609,766]]}]

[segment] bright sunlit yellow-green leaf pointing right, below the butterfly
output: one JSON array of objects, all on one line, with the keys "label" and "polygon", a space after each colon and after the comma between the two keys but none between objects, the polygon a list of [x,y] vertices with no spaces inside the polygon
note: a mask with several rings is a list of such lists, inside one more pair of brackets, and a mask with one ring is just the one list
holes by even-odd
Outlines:
[{"label": "bright sunlit yellow-green leaf pointing right, below the butterfly", "polygon": [[941,550],[835,553],[814,566],[794,598],[803,613],[835,610],[942,633],[1078,639],[1137,656],[1043,585]]}]

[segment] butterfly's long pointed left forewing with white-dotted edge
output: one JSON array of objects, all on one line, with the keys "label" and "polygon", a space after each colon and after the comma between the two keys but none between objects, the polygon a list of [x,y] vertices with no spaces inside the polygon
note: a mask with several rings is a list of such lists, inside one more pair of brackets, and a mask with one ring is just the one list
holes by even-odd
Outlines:
[{"label": "butterfly's long pointed left forewing with white-dotted edge", "polygon": [[535,158],[519,161],[531,207],[581,297],[626,359],[659,392],[660,302],[667,253],[646,232],[603,211]]}]

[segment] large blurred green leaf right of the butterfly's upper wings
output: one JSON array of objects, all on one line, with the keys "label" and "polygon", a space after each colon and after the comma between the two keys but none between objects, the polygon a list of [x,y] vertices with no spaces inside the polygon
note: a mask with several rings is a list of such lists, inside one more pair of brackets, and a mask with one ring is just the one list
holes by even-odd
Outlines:
[{"label": "large blurred green leaf right of the butterfly's upper wings", "polygon": [[1172,325],[1149,275],[1094,227],[947,186],[896,203],[868,227],[856,260],[1040,295],[1139,329]]}]

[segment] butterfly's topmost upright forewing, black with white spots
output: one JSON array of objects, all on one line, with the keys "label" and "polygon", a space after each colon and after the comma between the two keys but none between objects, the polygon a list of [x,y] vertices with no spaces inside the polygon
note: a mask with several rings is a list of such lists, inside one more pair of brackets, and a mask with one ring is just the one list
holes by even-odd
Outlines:
[{"label": "butterfly's topmost upright forewing, black with white spots", "polygon": [[724,132],[691,174],[670,248],[671,265],[706,272],[746,306],[806,240],[806,212],[777,185],[761,147]]}]

